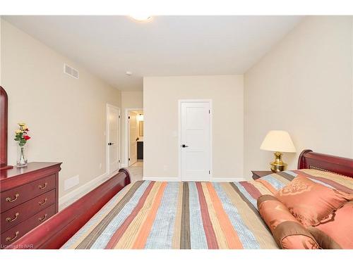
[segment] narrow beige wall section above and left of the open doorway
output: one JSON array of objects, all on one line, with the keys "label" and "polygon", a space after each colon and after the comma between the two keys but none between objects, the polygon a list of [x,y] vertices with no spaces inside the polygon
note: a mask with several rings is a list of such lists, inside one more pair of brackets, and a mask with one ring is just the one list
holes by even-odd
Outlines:
[{"label": "narrow beige wall section above and left of the open doorway", "polygon": [[121,163],[123,166],[128,165],[128,140],[126,140],[126,108],[140,109],[143,108],[143,92],[142,91],[123,91],[121,92]]}]

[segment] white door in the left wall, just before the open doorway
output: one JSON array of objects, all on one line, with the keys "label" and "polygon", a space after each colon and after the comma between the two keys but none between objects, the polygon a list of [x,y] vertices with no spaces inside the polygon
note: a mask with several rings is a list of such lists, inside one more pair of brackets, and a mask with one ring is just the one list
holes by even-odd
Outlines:
[{"label": "white door in the left wall, just before the open doorway", "polygon": [[120,167],[120,109],[107,106],[107,171],[108,174]]}]

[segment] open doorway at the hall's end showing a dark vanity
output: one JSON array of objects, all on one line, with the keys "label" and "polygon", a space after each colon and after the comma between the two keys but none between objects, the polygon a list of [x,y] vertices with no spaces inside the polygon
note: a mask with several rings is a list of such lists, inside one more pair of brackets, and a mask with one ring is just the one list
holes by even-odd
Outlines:
[{"label": "open doorway at the hall's end showing a dark vanity", "polygon": [[128,167],[143,167],[143,110],[127,111]]}]

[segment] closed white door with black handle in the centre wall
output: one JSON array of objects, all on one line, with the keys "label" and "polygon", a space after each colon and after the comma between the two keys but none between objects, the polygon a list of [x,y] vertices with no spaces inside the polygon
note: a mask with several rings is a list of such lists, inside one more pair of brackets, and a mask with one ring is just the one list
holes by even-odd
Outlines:
[{"label": "closed white door with black handle in the centre wall", "polygon": [[182,181],[209,181],[211,173],[210,101],[180,101]]}]

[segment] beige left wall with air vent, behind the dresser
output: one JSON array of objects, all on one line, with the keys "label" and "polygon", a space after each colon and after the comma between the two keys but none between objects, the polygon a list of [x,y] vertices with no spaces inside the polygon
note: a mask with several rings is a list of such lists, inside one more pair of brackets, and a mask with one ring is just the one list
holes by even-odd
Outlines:
[{"label": "beige left wall with air vent, behind the dresser", "polygon": [[[121,106],[118,89],[77,63],[57,54],[5,20],[1,23],[2,85],[8,92],[8,161],[16,163],[13,131],[26,122],[32,139],[29,161],[61,161],[59,196],[64,180],[80,175],[80,185],[106,172],[106,103]],[[63,64],[80,72],[63,73]],[[100,168],[102,164],[102,168]]]}]

